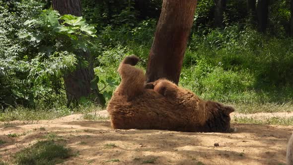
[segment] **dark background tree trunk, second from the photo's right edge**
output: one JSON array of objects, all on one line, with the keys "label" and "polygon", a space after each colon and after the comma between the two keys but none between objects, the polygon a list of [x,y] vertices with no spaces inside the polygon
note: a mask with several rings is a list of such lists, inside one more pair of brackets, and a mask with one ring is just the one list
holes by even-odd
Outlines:
[{"label": "dark background tree trunk, second from the photo's right edge", "polygon": [[269,8],[269,0],[258,0],[258,3],[257,3],[258,31],[263,33],[267,29],[268,8]]}]

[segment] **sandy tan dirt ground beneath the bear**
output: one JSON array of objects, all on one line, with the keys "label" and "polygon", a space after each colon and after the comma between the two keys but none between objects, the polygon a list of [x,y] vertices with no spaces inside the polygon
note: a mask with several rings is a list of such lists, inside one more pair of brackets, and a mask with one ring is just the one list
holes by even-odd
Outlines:
[{"label": "sandy tan dirt ground beneath the bear", "polygon": [[[100,114],[107,115],[105,111]],[[293,130],[293,126],[253,124],[233,124],[237,128],[234,133],[113,130],[109,120],[88,121],[81,120],[80,116],[33,123],[0,122],[0,139],[6,142],[0,144],[0,158],[7,161],[19,150],[17,146],[33,144],[55,133],[66,140],[75,155],[65,160],[64,165],[151,162],[157,165],[280,165],[286,162],[286,146]],[[40,130],[41,127],[45,130]],[[7,136],[12,133],[21,136]],[[215,147],[215,143],[220,146]]]}]

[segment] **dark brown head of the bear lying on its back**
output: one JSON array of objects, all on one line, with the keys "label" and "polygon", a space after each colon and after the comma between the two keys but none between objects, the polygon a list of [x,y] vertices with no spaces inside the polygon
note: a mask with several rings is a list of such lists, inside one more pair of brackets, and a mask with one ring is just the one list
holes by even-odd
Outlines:
[{"label": "dark brown head of the bear lying on its back", "polygon": [[215,101],[206,101],[205,110],[210,113],[205,129],[207,132],[234,132],[230,127],[230,113],[235,109],[229,105],[223,105]]}]

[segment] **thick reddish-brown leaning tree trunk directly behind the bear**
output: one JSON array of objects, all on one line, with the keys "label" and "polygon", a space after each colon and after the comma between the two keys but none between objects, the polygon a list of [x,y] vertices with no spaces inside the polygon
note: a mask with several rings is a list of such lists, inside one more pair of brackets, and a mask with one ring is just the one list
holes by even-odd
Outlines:
[{"label": "thick reddish-brown leaning tree trunk directly behind the bear", "polygon": [[166,78],[179,82],[197,0],[163,0],[147,64],[147,83]]}]

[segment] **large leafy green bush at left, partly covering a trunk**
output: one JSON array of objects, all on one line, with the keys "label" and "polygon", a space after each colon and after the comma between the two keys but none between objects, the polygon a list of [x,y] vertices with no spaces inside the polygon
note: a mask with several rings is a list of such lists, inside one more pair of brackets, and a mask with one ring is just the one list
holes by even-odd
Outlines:
[{"label": "large leafy green bush at left, partly covering a trunk", "polygon": [[77,61],[87,65],[74,54],[87,51],[96,30],[82,17],[42,11],[44,4],[37,1],[8,4],[0,7],[0,107],[33,106],[48,94],[62,93],[62,78]]}]

